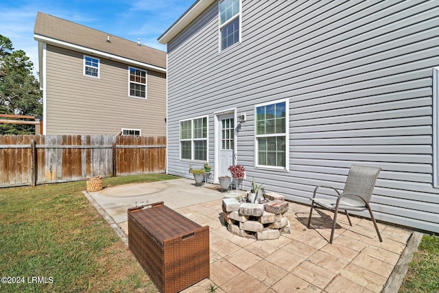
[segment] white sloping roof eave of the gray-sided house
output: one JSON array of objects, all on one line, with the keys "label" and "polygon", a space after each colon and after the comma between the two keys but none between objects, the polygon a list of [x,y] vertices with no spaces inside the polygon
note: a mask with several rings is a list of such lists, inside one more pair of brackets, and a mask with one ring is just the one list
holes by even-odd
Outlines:
[{"label": "white sloping roof eave of the gray-sided house", "polygon": [[198,0],[182,15],[177,21],[169,27],[166,32],[158,37],[158,43],[166,45],[178,33],[196,19],[206,8],[208,8],[215,0]]}]

